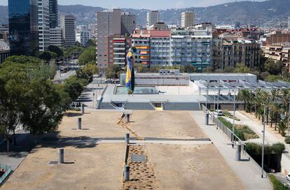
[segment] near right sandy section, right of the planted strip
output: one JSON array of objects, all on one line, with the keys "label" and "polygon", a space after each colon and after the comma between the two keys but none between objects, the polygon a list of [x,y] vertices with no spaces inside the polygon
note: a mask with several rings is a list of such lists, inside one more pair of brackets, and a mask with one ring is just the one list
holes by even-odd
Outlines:
[{"label": "near right sandy section, right of the planted strip", "polygon": [[146,145],[160,189],[244,189],[214,145]]}]

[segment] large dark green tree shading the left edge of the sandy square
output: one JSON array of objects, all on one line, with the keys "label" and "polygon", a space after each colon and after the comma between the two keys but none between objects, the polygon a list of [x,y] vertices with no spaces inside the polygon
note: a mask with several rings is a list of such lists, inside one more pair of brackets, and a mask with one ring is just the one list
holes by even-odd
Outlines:
[{"label": "large dark green tree shading the left edge of the sandy square", "polygon": [[33,80],[23,95],[20,119],[25,130],[34,136],[57,130],[65,109],[55,86],[44,78]]}]

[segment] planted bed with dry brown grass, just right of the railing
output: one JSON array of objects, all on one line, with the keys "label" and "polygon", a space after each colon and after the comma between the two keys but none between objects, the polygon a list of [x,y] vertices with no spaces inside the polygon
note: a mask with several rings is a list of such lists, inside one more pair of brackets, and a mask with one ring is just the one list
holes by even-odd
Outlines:
[{"label": "planted bed with dry brown grass, just right of the railing", "polygon": [[[219,120],[228,128],[230,131],[233,129],[233,124],[228,122],[225,118],[219,117]],[[240,140],[248,140],[253,138],[258,138],[257,134],[249,129],[247,125],[237,125],[235,124],[235,135],[240,138]]]}]

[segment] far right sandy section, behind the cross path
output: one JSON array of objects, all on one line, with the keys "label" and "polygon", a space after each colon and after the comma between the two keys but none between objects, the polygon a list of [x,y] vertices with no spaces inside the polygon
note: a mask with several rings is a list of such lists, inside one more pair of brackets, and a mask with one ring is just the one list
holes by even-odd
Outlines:
[{"label": "far right sandy section, behind the cross path", "polygon": [[207,138],[186,111],[139,111],[132,115],[130,129],[142,137]]}]

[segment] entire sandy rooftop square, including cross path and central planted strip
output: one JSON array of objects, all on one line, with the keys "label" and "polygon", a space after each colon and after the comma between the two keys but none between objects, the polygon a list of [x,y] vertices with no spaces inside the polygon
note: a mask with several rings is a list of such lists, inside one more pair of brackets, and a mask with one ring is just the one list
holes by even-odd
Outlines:
[{"label": "entire sandy rooftop square, including cross path and central planted strip", "polygon": [[[130,124],[117,124],[122,114],[70,112],[1,189],[244,189],[189,112],[134,111]],[[78,117],[83,130],[73,130]],[[130,182],[122,180],[125,133],[136,143],[129,149]],[[48,164],[57,161],[59,147],[65,163]],[[134,154],[146,155],[145,161],[134,163]]]}]

